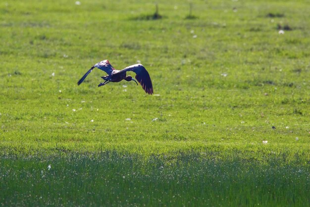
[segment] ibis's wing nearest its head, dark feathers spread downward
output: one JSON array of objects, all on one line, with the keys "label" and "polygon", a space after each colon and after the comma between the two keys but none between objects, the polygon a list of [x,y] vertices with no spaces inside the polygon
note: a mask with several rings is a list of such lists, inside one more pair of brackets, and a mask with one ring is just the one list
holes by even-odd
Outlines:
[{"label": "ibis's wing nearest its head, dark feathers spread downward", "polygon": [[142,85],[142,88],[145,90],[145,92],[148,94],[153,94],[153,85],[150,74],[141,64],[128,66],[119,72],[125,71],[134,71],[136,73],[136,79]]}]

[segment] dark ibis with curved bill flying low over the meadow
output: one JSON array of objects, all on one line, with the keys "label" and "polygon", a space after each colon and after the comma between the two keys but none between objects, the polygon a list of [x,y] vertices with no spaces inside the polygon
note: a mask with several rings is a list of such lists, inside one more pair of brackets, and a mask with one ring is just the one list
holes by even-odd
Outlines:
[{"label": "dark ibis with curved bill flying low over the meadow", "polygon": [[[100,83],[98,87],[103,86],[109,82],[119,82],[121,80],[126,81],[137,81],[130,75],[127,76],[127,71],[133,71],[136,73],[136,79],[141,84],[142,88],[145,90],[146,93],[152,95],[153,94],[153,85],[152,80],[150,77],[149,72],[141,65],[141,64],[135,64],[132,66],[128,66],[122,70],[114,69],[113,66],[111,66],[110,62],[108,60],[101,61],[97,64],[95,64],[91,69],[89,69],[85,75],[78,81],[78,85],[80,85],[84,79],[87,77],[87,75],[94,69],[98,68],[103,70],[107,73],[106,76],[101,76],[104,80],[104,82]],[[138,83],[137,83],[138,85]]]}]

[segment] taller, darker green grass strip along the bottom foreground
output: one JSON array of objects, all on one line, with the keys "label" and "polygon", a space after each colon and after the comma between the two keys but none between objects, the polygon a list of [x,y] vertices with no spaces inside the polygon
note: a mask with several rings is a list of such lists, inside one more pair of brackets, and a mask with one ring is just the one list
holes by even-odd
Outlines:
[{"label": "taller, darker green grass strip along the bottom foreground", "polygon": [[4,206],[283,207],[309,200],[309,168],[272,158],[223,161],[191,153],[145,160],[116,152],[1,158]]}]

